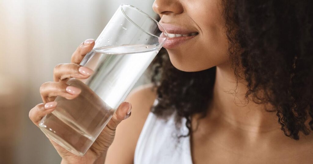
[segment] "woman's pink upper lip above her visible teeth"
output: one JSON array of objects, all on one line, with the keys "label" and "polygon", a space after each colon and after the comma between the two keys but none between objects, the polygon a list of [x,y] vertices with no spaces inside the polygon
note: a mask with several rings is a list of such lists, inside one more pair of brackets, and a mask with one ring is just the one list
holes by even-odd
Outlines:
[{"label": "woman's pink upper lip above her visible teeth", "polygon": [[177,26],[177,25],[168,24],[168,23],[160,23],[160,24],[163,27],[162,28],[162,27],[160,27],[158,25],[160,31],[162,31],[162,32],[166,31],[167,33],[170,33],[170,34],[182,34],[182,35],[185,35],[185,34],[191,34],[191,33],[194,33],[194,32],[198,33],[198,31],[190,30],[190,29],[182,27],[182,26]]}]

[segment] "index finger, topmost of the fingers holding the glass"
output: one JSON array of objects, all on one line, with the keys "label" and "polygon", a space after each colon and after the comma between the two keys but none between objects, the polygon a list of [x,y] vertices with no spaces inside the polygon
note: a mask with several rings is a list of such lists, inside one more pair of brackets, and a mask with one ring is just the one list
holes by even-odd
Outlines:
[{"label": "index finger, topmost of the fingers holding the glass", "polygon": [[79,64],[85,55],[92,50],[92,48],[95,46],[95,40],[94,39],[87,39],[85,42],[81,43],[76,51],[73,53],[71,61],[72,63]]}]

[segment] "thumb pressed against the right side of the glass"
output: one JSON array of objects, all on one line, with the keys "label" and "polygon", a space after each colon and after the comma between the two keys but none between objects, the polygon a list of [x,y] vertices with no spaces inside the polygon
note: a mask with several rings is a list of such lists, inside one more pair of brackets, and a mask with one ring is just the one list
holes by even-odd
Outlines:
[{"label": "thumb pressed against the right side of the glass", "polygon": [[131,103],[122,102],[112,116],[112,119],[106,125],[110,130],[115,130],[117,125],[126,118],[131,116]]}]

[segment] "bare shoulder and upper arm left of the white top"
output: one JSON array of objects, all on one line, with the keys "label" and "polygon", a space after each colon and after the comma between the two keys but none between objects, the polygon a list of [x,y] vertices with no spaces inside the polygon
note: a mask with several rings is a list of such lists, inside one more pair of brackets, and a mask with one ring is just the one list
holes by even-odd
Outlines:
[{"label": "bare shoulder and upper arm left of the white top", "polygon": [[118,125],[105,163],[133,163],[137,140],[155,98],[152,83],[136,87],[128,94],[125,101],[131,103],[131,117]]}]

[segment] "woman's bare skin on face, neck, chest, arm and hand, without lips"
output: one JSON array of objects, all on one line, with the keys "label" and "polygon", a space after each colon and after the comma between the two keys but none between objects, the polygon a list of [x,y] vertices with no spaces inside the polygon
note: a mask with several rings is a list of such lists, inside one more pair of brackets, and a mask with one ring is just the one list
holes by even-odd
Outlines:
[{"label": "woman's bare skin on face, neck, chest, arm and hand, without lips", "polygon": [[[192,116],[193,132],[190,142],[194,164],[311,163],[311,135],[300,134],[300,141],[286,137],[280,130],[275,113],[265,112],[264,109],[271,109],[269,104],[244,101],[246,83],[244,80],[237,83],[231,68],[220,0],[156,0],[153,9],[160,15],[160,22],[199,32],[187,42],[167,49],[170,60],[177,69],[195,72],[214,66],[217,68],[213,100],[208,108],[210,112],[201,119],[198,115]],[[66,77],[78,75],[80,66],[77,64],[93,46],[93,42],[86,46],[82,43],[72,56],[72,62],[76,65],[65,64],[64,67],[55,68],[55,82],[46,83],[40,89],[44,103],[53,101],[56,95],[76,97],[66,92],[64,81]],[[81,79],[87,78],[79,76]],[[64,77],[65,80],[59,80],[59,77]],[[61,163],[133,163],[138,137],[156,98],[156,91],[151,91],[151,88],[151,84],[141,86],[128,95],[126,102],[131,103],[132,116],[124,120],[128,116],[127,109],[121,107],[122,103],[108,124],[113,129],[119,125],[118,128],[111,132],[106,132],[105,129],[103,134],[113,135],[100,135],[99,139],[107,137],[112,141],[114,138],[114,142],[98,144],[100,151],[90,150],[84,157],[77,157],[50,140],[63,158]],[[51,95],[52,92],[54,95]],[[29,117],[36,125],[41,117],[54,110],[43,110],[43,106],[44,104],[38,104],[30,111]]]}]

